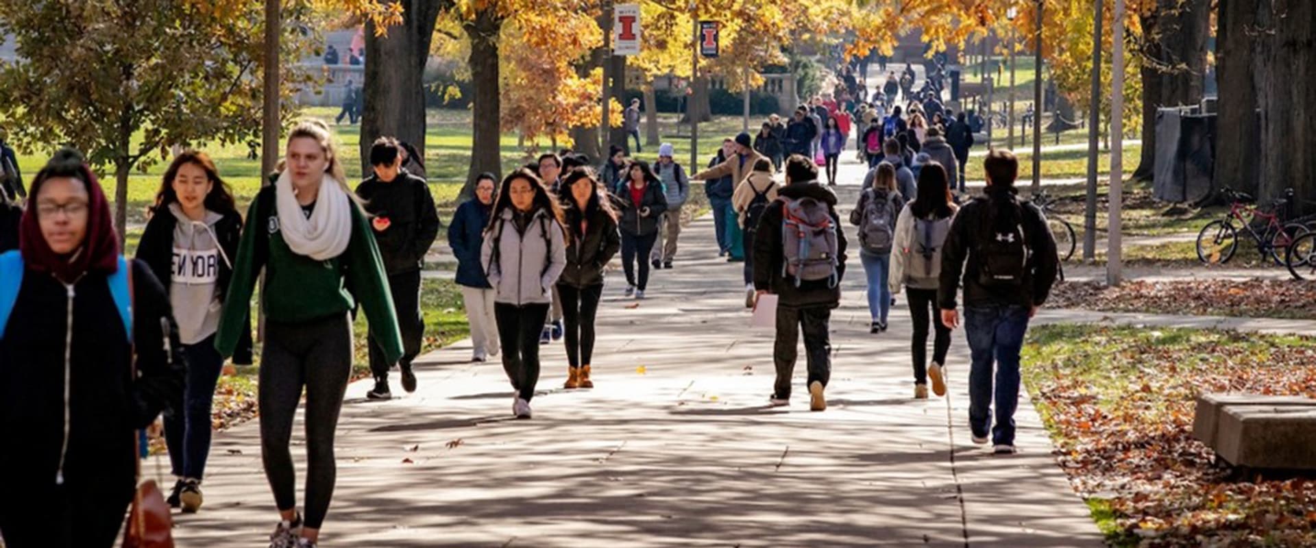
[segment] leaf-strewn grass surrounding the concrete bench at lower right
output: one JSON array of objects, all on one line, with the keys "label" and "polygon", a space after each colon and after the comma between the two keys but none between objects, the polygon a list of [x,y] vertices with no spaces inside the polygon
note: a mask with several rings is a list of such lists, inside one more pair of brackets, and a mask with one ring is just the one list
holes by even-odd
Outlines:
[{"label": "leaf-strewn grass surrounding the concrete bench at lower right", "polygon": [[1316,481],[1237,473],[1191,438],[1194,397],[1316,397],[1316,339],[1225,331],[1034,330],[1025,378],[1075,490],[1115,545],[1316,545]]}]

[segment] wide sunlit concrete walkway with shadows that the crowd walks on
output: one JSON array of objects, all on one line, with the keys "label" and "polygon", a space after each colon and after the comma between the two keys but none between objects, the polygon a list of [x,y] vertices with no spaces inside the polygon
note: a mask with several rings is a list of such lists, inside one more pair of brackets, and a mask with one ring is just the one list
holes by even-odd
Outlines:
[{"label": "wide sunlit concrete walkway with shadows that the crowd walks on", "polygon": [[[417,364],[415,394],[367,402],[368,382],[349,386],[322,545],[1101,544],[1026,396],[1019,455],[970,443],[963,331],[949,400],[911,398],[904,300],[892,330],[869,335],[858,260],[832,321],[830,407],[808,411],[803,352],[792,405],[767,407],[772,334],[746,327],[741,264],[712,240],[709,218],[690,226],[640,306],[611,275],[597,388],[561,390],[563,347],[544,347],[532,421],[511,419],[501,367],[467,363],[465,342]],[[180,547],[267,541],[276,515],[259,455],[255,422],[216,436],[205,506],[176,515]]]}]

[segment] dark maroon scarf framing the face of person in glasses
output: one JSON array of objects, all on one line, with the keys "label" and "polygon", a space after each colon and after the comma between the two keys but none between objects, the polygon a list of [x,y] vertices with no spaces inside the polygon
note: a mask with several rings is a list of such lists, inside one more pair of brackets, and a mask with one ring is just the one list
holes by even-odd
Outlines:
[{"label": "dark maroon scarf framing the face of person in glasses", "polygon": [[41,223],[37,221],[37,197],[41,196],[41,185],[45,183],[41,173],[32,183],[29,191],[32,200],[18,225],[18,251],[26,267],[36,272],[47,272],[63,283],[72,283],[88,271],[108,275],[118,269],[118,235],[109,214],[109,201],[105,200],[96,175],[87,166],[83,166],[82,171],[89,198],[87,235],[82,247],[72,254],[59,255],[50,250],[50,244],[41,235]]}]

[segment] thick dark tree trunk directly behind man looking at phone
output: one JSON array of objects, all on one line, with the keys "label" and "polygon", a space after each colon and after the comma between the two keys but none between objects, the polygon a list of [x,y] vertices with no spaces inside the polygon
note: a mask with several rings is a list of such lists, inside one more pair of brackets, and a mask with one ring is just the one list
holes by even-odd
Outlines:
[{"label": "thick dark tree trunk directly behind man looking at phone", "polygon": [[[395,137],[425,155],[425,85],[421,75],[429,59],[438,13],[451,0],[392,0],[403,4],[403,22],[376,37],[366,24],[366,67],[361,117],[361,171],[370,172],[370,146],[379,137]],[[382,62],[386,60],[386,62]]]}]

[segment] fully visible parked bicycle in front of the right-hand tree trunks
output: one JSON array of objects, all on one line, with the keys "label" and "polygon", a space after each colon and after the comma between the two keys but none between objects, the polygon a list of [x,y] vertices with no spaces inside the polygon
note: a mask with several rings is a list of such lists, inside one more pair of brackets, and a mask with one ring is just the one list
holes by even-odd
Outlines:
[{"label": "fully visible parked bicycle in front of the right-hand tree trunks", "polygon": [[1275,200],[1267,210],[1255,206],[1257,198],[1230,188],[1220,191],[1229,200],[1229,213],[1220,221],[1211,221],[1198,233],[1198,259],[1205,264],[1225,264],[1238,250],[1238,234],[1253,239],[1262,260],[1284,264],[1286,250],[1303,234],[1307,226],[1283,219],[1283,212],[1292,200],[1294,191]]}]

